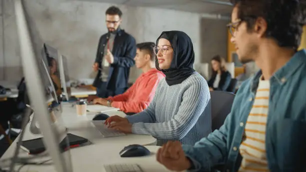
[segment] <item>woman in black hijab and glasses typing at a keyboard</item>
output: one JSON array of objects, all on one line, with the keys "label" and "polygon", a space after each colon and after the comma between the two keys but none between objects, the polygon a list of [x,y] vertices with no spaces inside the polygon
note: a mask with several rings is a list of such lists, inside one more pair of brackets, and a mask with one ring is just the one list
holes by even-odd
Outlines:
[{"label": "woman in black hijab and glasses typing at a keyboard", "polygon": [[156,40],[156,68],[165,74],[150,105],[137,114],[109,117],[110,128],[148,134],[157,145],[179,140],[193,145],[211,132],[210,94],[205,79],[194,71],[190,37],[182,31],[164,31]]}]

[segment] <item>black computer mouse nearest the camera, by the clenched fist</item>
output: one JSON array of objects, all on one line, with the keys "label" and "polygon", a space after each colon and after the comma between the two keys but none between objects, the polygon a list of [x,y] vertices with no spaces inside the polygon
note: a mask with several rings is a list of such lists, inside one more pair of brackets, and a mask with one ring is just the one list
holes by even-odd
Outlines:
[{"label": "black computer mouse nearest the camera, by the clenched fist", "polygon": [[120,152],[121,157],[136,157],[136,156],[145,156],[149,155],[151,152],[140,144],[130,144],[125,146]]}]

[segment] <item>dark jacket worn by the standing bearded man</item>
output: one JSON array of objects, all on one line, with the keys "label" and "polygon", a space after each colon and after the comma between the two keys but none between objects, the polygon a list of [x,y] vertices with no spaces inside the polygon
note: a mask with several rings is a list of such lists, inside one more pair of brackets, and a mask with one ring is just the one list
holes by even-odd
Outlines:
[{"label": "dark jacket worn by the standing bearded man", "polygon": [[[107,33],[103,34],[99,39],[97,47],[95,62],[99,63],[99,68],[102,68],[101,61],[104,56],[104,47],[107,44],[109,36]],[[112,48],[114,62],[110,64],[109,74],[107,78],[107,89],[115,90],[116,88],[126,88],[129,76],[129,68],[135,64],[134,57],[136,55],[135,39],[123,29],[117,30],[114,38]],[[101,71],[98,73],[93,81],[93,86],[100,87]]]}]

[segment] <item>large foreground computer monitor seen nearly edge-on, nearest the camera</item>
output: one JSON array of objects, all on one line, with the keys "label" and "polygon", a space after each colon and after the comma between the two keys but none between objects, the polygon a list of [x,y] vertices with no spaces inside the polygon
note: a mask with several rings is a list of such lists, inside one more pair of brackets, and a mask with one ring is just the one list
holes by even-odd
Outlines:
[{"label": "large foreground computer monitor seen nearly edge-on, nearest the camera", "polygon": [[[43,142],[50,154],[55,169],[58,172],[72,171],[70,156],[63,155],[58,146],[59,133],[51,125],[50,115],[46,106],[46,82],[44,72],[40,72],[41,48],[43,43],[35,29],[35,23],[29,17],[29,6],[26,0],[14,0],[17,33],[19,38],[23,73],[31,105],[35,111],[40,129],[43,133]],[[65,158],[67,156],[68,158]]]}]

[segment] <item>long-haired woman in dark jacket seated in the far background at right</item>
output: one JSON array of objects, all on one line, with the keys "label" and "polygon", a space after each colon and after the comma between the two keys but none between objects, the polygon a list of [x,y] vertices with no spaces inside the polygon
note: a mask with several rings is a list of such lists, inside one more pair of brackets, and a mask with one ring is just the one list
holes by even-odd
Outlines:
[{"label": "long-haired woman in dark jacket seated in the far background at right", "polygon": [[209,90],[226,91],[230,85],[231,75],[226,70],[224,58],[216,55],[211,59],[212,74],[208,80]]}]

